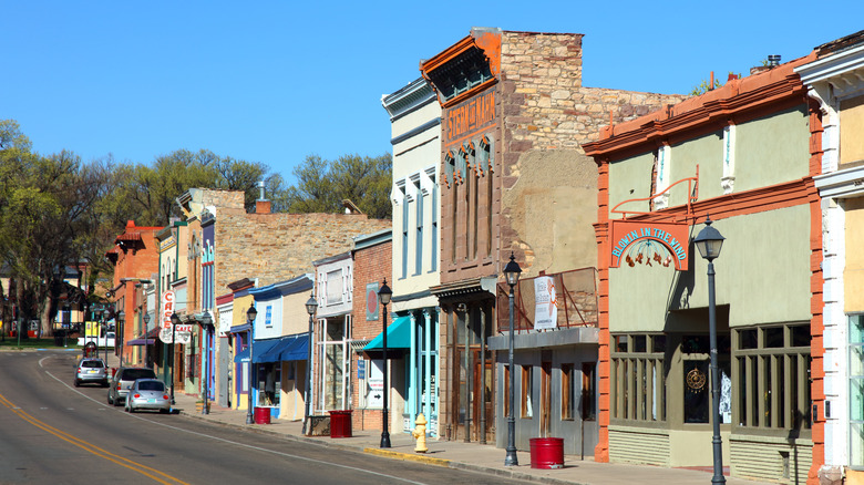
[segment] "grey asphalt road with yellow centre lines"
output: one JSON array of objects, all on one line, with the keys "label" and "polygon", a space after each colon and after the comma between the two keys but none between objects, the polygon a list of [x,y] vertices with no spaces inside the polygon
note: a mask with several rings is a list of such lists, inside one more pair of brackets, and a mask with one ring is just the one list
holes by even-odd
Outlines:
[{"label": "grey asphalt road with yellow centre lines", "polygon": [[78,353],[0,352],[0,484],[507,484],[238,431],[127,414],[106,389],[72,385]]}]

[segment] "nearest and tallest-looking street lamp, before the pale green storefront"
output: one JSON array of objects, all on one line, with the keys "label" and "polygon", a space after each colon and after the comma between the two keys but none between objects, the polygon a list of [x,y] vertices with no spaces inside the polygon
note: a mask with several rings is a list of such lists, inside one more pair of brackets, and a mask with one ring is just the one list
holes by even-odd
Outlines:
[{"label": "nearest and tallest-looking street lamp, before the pale green storefront", "polygon": [[714,303],[714,264],[720,256],[723,246],[723,236],[711,227],[711,216],[704,220],[704,227],[693,239],[693,245],[699,249],[702,258],[708,260],[708,332],[711,344],[711,413],[713,421],[713,436],[711,444],[714,456],[714,475],[711,483],[726,483],[723,477],[723,450],[720,440],[720,375],[717,368],[717,308]]}]

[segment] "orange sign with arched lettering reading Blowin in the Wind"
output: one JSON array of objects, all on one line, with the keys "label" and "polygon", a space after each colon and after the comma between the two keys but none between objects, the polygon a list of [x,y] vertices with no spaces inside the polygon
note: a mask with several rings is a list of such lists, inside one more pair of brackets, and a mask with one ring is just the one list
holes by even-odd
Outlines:
[{"label": "orange sign with arched lettering reading Blowin in the Wind", "polygon": [[683,271],[690,264],[690,226],[673,223],[611,221],[610,268],[673,266]]}]

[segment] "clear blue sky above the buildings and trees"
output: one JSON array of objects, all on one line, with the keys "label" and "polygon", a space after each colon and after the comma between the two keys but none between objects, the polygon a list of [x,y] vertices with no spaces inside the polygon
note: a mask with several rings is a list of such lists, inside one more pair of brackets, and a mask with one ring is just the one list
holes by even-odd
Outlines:
[{"label": "clear blue sky above the buildings and trees", "polygon": [[381,95],[471,27],[583,33],[585,86],[658,93],[864,29],[860,0],[763,3],[8,0],[0,120],[43,155],[207,148],[291,183],[309,154],[390,152]]}]

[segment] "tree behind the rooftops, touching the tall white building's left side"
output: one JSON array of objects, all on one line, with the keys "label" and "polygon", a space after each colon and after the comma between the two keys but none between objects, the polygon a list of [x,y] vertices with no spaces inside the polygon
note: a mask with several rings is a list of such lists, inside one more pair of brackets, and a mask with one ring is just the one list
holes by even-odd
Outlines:
[{"label": "tree behind the rooftops, touching the tall white building's left side", "polygon": [[294,169],[297,185],[288,187],[276,205],[291,213],[333,214],[350,199],[369,217],[389,219],[392,167],[390,154],[342,155],[332,162],[308,155]]}]

